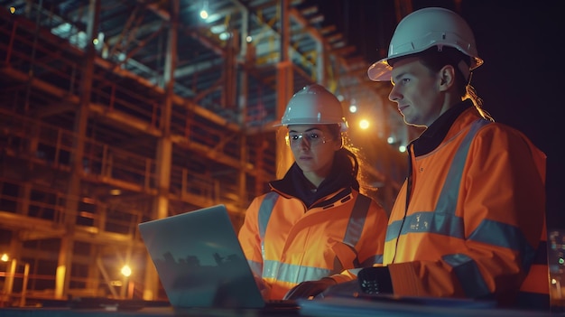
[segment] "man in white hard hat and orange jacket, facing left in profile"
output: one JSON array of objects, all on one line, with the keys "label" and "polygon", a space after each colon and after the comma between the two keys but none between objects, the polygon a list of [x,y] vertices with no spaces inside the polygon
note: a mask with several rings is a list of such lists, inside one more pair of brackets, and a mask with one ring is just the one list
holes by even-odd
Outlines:
[{"label": "man in white hard hat and orange jacket, facing left in profile", "polygon": [[366,293],[549,309],[545,154],[481,108],[470,79],[482,62],[468,23],[430,7],[404,17],[369,68],[394,84],[404,122],[426,129],[408,145],[383,266],[357,275]]}]

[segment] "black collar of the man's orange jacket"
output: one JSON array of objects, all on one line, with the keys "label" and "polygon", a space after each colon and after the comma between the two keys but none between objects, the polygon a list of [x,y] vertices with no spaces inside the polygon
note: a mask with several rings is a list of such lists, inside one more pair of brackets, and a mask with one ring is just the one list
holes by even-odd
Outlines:
[{"label": "black collar of the man's orange jacket", "polygon": [[428,128],[412,142],[414,145],[414,156],[429,154],[437,148],[445,138],[445,135],[448,134],[449,128],[453,125],[453,122],[455,122],[457,117],[459,117],[463,111],[467,110],[468,107],[475,107],[473,101],[470,99],[466,99],[456,106],[449,108],[449,110],[437,118],[431,126],[428,126]]}]

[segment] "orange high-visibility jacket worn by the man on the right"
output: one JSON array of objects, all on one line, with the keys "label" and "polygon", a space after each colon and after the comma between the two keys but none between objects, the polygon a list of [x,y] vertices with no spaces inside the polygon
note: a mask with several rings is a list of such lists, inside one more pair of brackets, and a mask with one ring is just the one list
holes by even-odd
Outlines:
[{"label": "orange high-visibility jacket worn by the man on the right", "polygon": [[545,154],[469,102],[449,112],[409,146],[384,244],[394,294],[549,307]]}]

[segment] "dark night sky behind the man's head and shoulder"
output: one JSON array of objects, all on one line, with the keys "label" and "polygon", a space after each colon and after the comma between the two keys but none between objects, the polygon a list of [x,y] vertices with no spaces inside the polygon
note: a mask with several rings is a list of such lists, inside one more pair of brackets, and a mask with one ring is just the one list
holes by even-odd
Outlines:
[{"label": "dark night sky behind the man's head and shoulder", "polygon": [[[373,62],[386,55],[396,26],[394,0],[318,0],[327,24]],[[458,5],[456,5],[458,3]],[[412,9],[441,6],[473,29],[485,63],[472,80],[497,122],[521,130],[547,154],[548,228],[565,228],[563,130],[565,17],[559,0],[412,0]],[[367,64],[368,67],[368,64]]]}]

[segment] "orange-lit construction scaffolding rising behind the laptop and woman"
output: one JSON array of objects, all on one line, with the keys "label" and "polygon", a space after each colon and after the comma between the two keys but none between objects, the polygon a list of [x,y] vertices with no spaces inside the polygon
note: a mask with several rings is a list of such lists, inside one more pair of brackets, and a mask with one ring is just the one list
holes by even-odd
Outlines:
[{"label": "orange-lit construction scaffolding rising behind the laptop and woman", "polygon": [[0,1],[2,305],[166,300],[137,224],[221,203],[238,228],[288,167],[272,126],[304,85],[384,100],[300,1],[214,2],[228,40],[195,3]]}]

